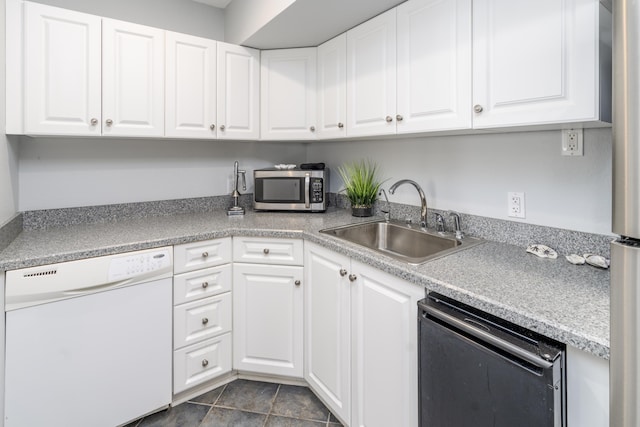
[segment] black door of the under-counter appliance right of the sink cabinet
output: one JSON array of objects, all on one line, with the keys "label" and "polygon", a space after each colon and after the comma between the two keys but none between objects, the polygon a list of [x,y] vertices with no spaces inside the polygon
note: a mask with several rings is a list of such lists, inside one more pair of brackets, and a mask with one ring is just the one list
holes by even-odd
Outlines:
[{"label": "black door of the under-counter appliance right of the sink cabinet", "polygon": [[421,427],[562,425],[562,384],[553,366],[535,366],[423,310],[419,314]]}]

